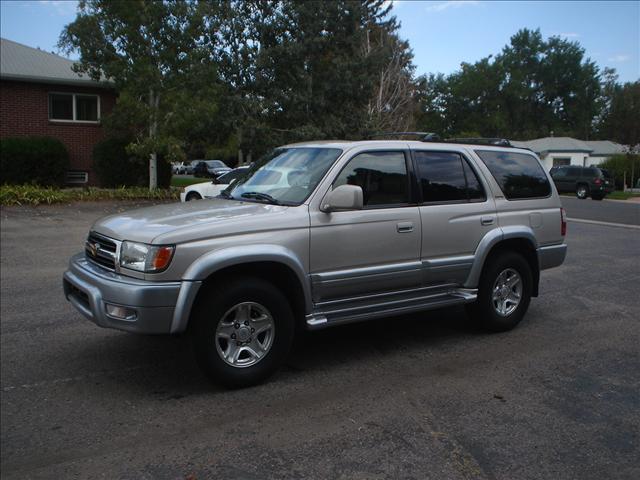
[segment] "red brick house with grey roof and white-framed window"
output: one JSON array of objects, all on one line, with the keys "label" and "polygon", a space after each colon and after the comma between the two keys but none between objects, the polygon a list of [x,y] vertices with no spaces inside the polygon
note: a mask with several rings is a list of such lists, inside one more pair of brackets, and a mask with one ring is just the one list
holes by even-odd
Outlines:
[{"label": "red brick house with grey roof and white-framed window", "polygon": [[109,82],[72,70],[73,61],[0,39],[0,138],[59,139],[67,147],[70,184],[96,184],[94,145],[104,137],[100,119],[116,101]]}]

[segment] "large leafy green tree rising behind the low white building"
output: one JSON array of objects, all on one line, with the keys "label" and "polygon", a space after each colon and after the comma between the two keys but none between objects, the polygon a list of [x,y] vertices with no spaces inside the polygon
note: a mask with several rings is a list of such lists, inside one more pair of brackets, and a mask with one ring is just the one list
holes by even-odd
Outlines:
[{"label": "large leafy green tree rising behind the low white building", "polygon": [[598,112],[596,65],[577,42],[544,40],[539,30],[518,31],[495,57],[419,81],[431,87],[422,90],[422,121],[436,121],[450,135],[589,138]]}]

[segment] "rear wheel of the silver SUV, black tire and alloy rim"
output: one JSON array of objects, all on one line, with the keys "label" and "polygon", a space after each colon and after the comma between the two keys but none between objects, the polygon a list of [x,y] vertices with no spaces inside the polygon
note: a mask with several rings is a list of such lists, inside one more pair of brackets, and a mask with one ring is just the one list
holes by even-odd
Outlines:
[{"label": "rear wheel of the silver SUV, black tire and alloy rim", "polygon": [[[505,272],[507,274],[505,275]],[[502,280],[516,279],[519,277],[519,284],[509,289],[503,287],[501,291],[494,291],[496,285],[500,286]],[[501,276],[504,275],[504,276]],[[529,302],[531,301],[531,291],[533,276],[531,267],[527,261],[515,252],[500,252],[491,255],[485,262],[485,267],[480,276],[480,286],[478,289],[478,299],[475,303],[467,306],[467,312],[475,324],[480,325],[492,332],[505,332],[514,328],[524,317]],[[498,297],[496,302],[494,293]],[[514,298],[519,294],[519,301],[514,307]],[[500,299],[509,296],[512,300],[507,300],[504,304]],[[508,308],[502,313],[499,312],[501,306]]]}]

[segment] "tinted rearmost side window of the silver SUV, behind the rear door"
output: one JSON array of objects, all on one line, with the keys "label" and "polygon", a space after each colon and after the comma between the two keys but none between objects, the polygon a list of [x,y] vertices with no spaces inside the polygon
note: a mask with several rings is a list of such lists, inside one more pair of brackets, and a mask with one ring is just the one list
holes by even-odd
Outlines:
[{"label": "tinted rearmost side window of the silver SUV, behind the rear door", "polygon": [[514,152],[476,150],[505,198],[536,198],[551,194],[542,165],[532,155]]}]

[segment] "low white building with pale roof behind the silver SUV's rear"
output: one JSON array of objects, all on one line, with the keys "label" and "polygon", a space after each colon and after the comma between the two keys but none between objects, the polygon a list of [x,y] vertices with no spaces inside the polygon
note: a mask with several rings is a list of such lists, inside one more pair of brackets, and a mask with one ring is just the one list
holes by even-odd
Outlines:
[{"label": "low white building with pale roof behind the silver SUV's rear", "polygon": [[624,153],[624,147],[609,140],[577,140],[571,137],[545,137],[512,141],[517,147],[535,152],[546,170],[560,165],[600,165],[613,155]]}]

